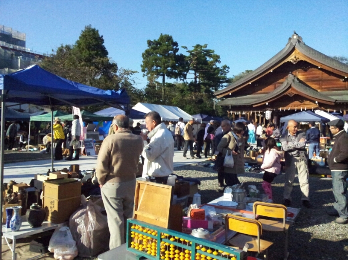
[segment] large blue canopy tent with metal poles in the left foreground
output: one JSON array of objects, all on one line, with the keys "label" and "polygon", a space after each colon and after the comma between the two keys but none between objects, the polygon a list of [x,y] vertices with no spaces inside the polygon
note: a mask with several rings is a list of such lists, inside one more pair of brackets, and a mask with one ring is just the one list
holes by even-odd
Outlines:
[{"label": "large blue canopy tent with metal poles in the left foreground", "polygon": [[[51,112],[55,106],[91,106],[109,105],[121,108],[120,105],[128,107],[130,98],[127,92],[101,90],[86,86],[74,81],[58,77],[37,65],[32,65],[17,72],[0,75],[1,107],[6,102],[19,104],[49,105]],[[0,186],[3,183],[3,151],[4,151],[4,122],[5,109],[1,110],[1,139],[0,139]],[[51,124],[53,114],[51,113]],[[53,129],[53,128],[51,128]],[[53,130],[51,132],[53,136]],[[51,163],[53,169],[53,150],[51,151]],[[2,201],[2,192],[1,199]],[[0,210],[2,215],[2,207]],[[1,233],[1,228],[0,228]]]}]

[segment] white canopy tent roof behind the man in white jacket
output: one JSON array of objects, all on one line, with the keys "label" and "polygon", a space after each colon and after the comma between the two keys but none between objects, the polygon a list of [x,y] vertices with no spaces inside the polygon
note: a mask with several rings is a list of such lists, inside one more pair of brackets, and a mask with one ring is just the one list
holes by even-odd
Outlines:
[{"label": "white canopy tent roof behind the man in white jacket", "polygon": [[184,122],[188,122],[192,118],[191,115],[187,114],[182,109],[178,107],[172,107],[172,106],[138,103],[133,107],[133,109],[143,113],[156,111],[160,114],[162,121],[177,122],[179,118],[183,118]]}]

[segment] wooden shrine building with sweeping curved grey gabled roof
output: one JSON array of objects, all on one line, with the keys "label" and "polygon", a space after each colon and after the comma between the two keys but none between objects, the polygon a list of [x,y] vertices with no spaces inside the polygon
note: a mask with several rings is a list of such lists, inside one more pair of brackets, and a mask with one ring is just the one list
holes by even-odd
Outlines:
[{"label": "wooden shrine building with sweeping curved grey gabled roof", "polygon": [[276,123],[295,111],[348,110],[348,65],[309,46],[296,32],[284,49],[253,72],[215,92],[218,105],[229,106],[233,118]]}]

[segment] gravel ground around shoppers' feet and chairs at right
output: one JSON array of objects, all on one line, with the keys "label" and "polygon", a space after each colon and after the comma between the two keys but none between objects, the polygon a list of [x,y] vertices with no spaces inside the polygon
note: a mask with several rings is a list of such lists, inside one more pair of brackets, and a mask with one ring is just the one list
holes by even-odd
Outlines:
[{"label": "gravel ground around shoppers' feet and chairs at right", "polygon": [[[201,202],[207,203],[222,196],[218,190],[217,173],[203,166],[182,166],[174,173],[183,177],[194,177],[201,181],[199,193]],[[241,182],[256,185],[262,191],[262,174],[239,174]],[[332,180],[310,177],[310,199],[312,208],[302,207],[301,190],[298,178],[295,178],[292,192],[292,207],[301,208],[295,225],[289,229],[289,260],[347,260],[348,259],[348,225],[333,223],[336,217],[326,214],[332,208],[334,195]],[[283,202],[284,174],[275,178],[272,184],[275,203]],[[284,259],[284,236],[282,234],[264,233],[263,238],[275,242],[269,250],[269,260]]]}]

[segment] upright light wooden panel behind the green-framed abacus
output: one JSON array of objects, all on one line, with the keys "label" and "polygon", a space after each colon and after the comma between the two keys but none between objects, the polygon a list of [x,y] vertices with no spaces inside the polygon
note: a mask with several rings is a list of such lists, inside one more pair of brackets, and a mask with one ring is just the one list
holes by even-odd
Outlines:
[{"label": "upright light wooden panel behind the green-framed abacus", "polygon": [[135,186],[133,218],[168,228],[172,186],[137,181]]}]

